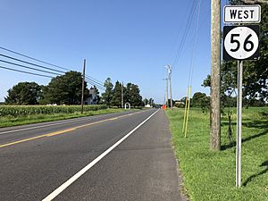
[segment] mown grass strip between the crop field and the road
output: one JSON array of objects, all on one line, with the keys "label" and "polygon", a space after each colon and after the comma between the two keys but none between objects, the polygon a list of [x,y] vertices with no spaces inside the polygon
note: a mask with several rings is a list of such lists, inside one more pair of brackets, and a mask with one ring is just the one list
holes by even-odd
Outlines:
[{"label": "mown grass strip between the crop field and the road", "polygon": [[83,116],[91,116],[91,115],[96,115],[96,114],[120,113],[123,111],[125,110],[109,108],[109,109],[104,109],[104,110],[88,111],[83,114],[75,112],[75,113],[31,114],[31,115],[25,115],[25,116],[19,116],[19,117],[4,116],[4,117],[0,117],[0,128],[24,125],[24,124],[29,124],[29,123],[37,123],[37,122],[67,120],[67,119],[83,117]]}]

